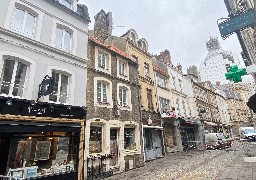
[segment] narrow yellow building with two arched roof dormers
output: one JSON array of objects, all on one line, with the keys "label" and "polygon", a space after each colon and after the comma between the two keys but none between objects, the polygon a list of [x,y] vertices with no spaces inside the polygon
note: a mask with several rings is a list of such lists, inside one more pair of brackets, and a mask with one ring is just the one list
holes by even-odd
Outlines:
[{"label": "narrow yellow building with two arched roof dormers", "polygon": [[163,157],[163,128],[161,127],[161,116],[157,112],[152,55],[148,52],[148,42],[144,38],[139,38],[134,29],[130,29],[121,37],[114,37],[113,43],[127,52],[139,65],[145,160]]}]

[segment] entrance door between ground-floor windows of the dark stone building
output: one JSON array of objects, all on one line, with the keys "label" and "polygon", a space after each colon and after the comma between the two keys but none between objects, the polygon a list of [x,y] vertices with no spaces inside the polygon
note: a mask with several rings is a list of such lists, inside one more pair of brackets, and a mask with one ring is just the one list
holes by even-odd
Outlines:
[{"label": "entrance door between ground-floor windows of the dark stone building", "polygon": [[112,155],[112,158],[110,160],[110,166],[115,166],[115,167],[119,165],[118,136],[119,136],[119,129],[111,128],[110,129],[110,154]]}]

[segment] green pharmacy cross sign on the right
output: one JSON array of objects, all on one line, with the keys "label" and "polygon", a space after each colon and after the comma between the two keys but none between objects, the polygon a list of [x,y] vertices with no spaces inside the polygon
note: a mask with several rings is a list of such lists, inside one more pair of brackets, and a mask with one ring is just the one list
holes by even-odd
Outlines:
[{"label": "green pharmacy cross sign on the right", "polygon": [[244,76],[247,74],[245,68],[238,69],[237,65],[231,66],[229,70],[230,71],[225,74],[226,79],[233,80],[235,83],[241,82],[242,81],[241,76]]}]

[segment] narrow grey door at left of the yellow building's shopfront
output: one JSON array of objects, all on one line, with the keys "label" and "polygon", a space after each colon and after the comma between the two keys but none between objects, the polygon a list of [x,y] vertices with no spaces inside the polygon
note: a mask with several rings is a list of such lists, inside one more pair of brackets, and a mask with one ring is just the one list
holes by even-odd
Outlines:
[{"label": "narrow grey door at left of the yellow building's shopfront", "polygon": [[153,147],[152,130],[144,129],[144,149],[146,161],[155,159],[155,149]]}]

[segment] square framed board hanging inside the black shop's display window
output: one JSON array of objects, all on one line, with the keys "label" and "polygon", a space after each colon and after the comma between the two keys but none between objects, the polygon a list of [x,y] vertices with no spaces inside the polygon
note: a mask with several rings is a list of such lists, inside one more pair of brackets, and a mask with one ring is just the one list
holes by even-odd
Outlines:
[{"label": "square framed board hanging inside the black shop's display window", "polygon": [[51,141],[37,141],[35,160],[49,159],[51,151]]}]

